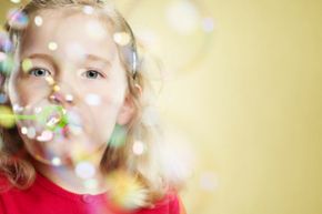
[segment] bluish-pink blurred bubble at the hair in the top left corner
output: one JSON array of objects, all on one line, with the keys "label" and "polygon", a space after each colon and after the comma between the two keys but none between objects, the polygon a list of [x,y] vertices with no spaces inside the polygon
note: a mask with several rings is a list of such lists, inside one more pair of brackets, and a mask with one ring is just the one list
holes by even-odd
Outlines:
[{"label": "bluish-pink blurred bubble at the hair in the top left corner", "polygon": [[11,9],[7,14],[8,23],[12,29],[22,30],[27,28],[29,19],[19,9]]}]

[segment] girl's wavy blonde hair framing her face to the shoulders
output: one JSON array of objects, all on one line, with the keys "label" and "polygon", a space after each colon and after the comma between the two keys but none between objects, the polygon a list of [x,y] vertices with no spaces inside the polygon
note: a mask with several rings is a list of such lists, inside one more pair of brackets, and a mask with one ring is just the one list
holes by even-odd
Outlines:
[{"label": "girl's wavy blonde hair framing her face to the shoulders", "polygon": [[[115,31],[124,31],[131,35],[131,41],[128,45],[119,47],[119,54],[127,70],[128,90],[133,98],[137,113],[127,125],[125,144],[123,146],[108,144],[101,160],[101,169],[105,172],[125,170],[135,177],[139,177],[148,192],[145,205],[152,204],[162,197],[169,191],[169,187],[173,188],[179,183],[171,181],[160,171],[160,160],[158,160],[158,156],[160,157],[161,155],[158,152],[159,142],[155,137],[160,132],[158,124],[147,124],[142,120],[142,113],[149,105],[142,96],[147,98],[144,94],[149,92],[147,88],[149,88],[150,83],[145,77],[147,72],[144,72],[143,65],[138,61],[135,39],[127,21],[110,3],[102,0],[31,0],[22,8],[22,12],[31,16],[43,9],[82,6],[91,6],[100,10],[103,16],[112,21]],[[10,26],[8,26],[8,31],[14,47],[19,47],[23,31],[10,29]],[[129,53],[131,53],[130,58]],[[140,94],[135,89],[135,84],[142,88],[143,94]],[[11,104],[8,103],[8,105]],[[19,188],[29,187],[34,180],[36,171],[31,163],[26,161],[28,153],[23,149],[23,142],[19,137],[17,128],[0,128],[0,131],[2,135],[0,172],[8,177],[13,186]],[[140,140],[144,143],[145,152],[143,154],[133,154],[132,146],[134,140]]]}]

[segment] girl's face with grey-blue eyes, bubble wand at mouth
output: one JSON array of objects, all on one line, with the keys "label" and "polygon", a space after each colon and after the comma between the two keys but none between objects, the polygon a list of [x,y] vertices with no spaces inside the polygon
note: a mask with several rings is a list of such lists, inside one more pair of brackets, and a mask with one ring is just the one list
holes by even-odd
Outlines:
[{"label": "girl's face with grey-blue eyes, bubble wand at mouth", "polygon": [[26,147],[52,164],[102,154],[115,123],[133,114],[111,23],[71,8],[30,20],[9,80]]}]

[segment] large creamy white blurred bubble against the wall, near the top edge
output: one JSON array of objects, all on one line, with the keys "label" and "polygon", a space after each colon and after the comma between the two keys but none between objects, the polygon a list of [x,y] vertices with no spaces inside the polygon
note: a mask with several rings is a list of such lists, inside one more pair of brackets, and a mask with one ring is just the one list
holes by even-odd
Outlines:
[{"label": "large creamy white blurred bubble against the wall, near the top edge", "polygon": [[180,33],[191,33],[197,30],[200,22],[200,14],[195,6],[188,0],[172,2],[167,10],[167,18],[170,26]]}]

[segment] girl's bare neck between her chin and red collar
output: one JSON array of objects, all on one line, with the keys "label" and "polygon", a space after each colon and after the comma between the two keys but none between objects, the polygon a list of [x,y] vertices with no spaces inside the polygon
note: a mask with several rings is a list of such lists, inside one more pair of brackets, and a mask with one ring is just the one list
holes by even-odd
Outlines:
[{"label": "girl's bare neck between her chin and red collar", "polygon": [[99,161],[82,160],[83,163],[90,163],[95,172],[90,180],[80,177],[76,172],[76,165],[72,164],[52,166],[41,163],[34,159],[32,159],[31,162],[39,173],[69,192],[93,195],[107,192],[107,186],[104,185],[103,179],[104,174],[100,170]]}]

